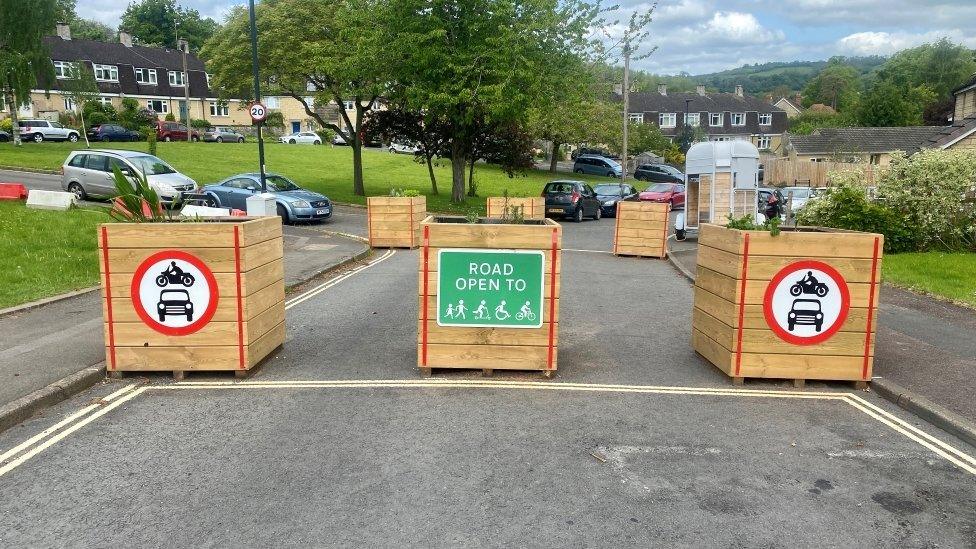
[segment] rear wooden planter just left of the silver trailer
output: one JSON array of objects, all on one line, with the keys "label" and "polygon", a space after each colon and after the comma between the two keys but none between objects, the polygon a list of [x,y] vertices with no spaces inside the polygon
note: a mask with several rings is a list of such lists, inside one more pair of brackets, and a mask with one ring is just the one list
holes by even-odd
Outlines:
[{"label": "rear wooden planter just left of the silver trailer", "polygon": [[671,206],[666,202],[618,202],[614,255],[664,259],[668,254],[670,212]]}]

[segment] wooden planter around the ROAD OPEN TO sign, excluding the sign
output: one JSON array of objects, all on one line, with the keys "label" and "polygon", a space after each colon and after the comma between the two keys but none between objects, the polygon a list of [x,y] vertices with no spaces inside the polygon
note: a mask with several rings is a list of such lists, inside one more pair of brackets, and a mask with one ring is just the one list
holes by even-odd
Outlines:
[{"label": "wooden planter around the ROAD OPEN TO sign, excluding the sign", "polygon": [[[482,219],[477,224],[464,221],[458,217],[428,217],[422,223],[417,326],[417,363],[421,373],[430,375],[431,368],[477,368],[485,375],[495,369],[537,370],[550,377],[557,367],[562,227],[551,219],[522,225],[503,224],[492,219]],[[444,325],[447,322],[438,318],[439,310],[443,311],[443,303],[438,299],[438,275],[445,274],[445,280],[450,280],[450,275],[438,272],[439,258],[448,257],[442,256],[442,251],[464,254],[468,250],[481,256],[500,253],[499,257],[509,258],[512,257],[509,254],[542,257],[538,270],[532,271],[535,273],[533,277],[542,273],[541,291],[535,294],[539,296],[541,308],[538,310],[541,313],[538,317],[531,315],[537,323],[522,327]],[[449,269],[445,268],[445,271]],[[513,275],[516,279],[520,276],[518,272]],[[531,294],[530,290],[525,295]],[[492,298],[501,294],[489,291],[486,295],[490,307],[501,303],[501,297]],[[451,300],[453,303],[453,297]],[[478,301],[469,300],[468,315],[476,313]],[[522,302],[520,297],[518,303]],[[528,300],[525,304],[529,305]],[[506,308],[510,308],[513,315],[519,310],[516,303],[510,303]],[[497,309],[495,314],[498,314]]]}]

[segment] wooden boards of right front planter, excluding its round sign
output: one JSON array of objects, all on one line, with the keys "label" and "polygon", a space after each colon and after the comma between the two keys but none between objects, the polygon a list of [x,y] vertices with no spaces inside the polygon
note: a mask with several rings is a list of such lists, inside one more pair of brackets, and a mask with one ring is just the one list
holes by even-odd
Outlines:
[{"label": "wooden boards of right front planter, excluding its round sign", "polygon": [[[692,315],[695,350],[736,379],[869,381],[883,246],[883,236],[868,233],[819,229],[774,237],[702,224]],[[850,308],[831,337],[796,345],[769,328],[763,302],[778,271],[808,259],[840,273],[850,291]]]}]

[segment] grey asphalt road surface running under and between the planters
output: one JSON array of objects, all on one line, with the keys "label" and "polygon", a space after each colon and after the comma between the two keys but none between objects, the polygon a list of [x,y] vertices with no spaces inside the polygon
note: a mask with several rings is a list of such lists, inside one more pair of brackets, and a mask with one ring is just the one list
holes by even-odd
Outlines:
[{"label": "grey asphalt road surface running under and between the planters", "polygon": [[973,546],[976,449],[848,385],[733,388],[671,265],[564,227],[554,379],[421,379],[418,252],[378,251],[246,382],[124,379],[0,434],[0,545]]}]

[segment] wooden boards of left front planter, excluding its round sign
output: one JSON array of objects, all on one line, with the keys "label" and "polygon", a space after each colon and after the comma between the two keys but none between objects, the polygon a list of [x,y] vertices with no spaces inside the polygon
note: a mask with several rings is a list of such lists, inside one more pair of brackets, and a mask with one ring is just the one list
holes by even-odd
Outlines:
[{"label": "wooden boards of left front planter, excluding its round sign", "polygon": [[[284,343],[279,218],[106,224],[101,235],[99,268],[109,371],[246,371]],[[162,250],[190,253],[213,272],[217,308],[210,322],[194,333],[160,333],[136,313],[130,295],[132,277],[146,258]]]}]

